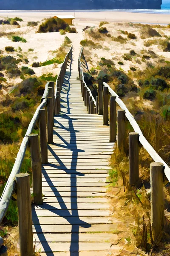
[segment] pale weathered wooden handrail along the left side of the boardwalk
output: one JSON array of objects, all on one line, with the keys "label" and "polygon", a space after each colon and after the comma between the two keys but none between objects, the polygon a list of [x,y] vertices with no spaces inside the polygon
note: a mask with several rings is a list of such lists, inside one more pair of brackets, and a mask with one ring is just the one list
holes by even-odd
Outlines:
[{"label": "pale weathered wooden handrail along the left side of the boardwalk", "polygon": [[[65,70],[66,70],[68,56],[71,53],[71,51],[72,51],[72,47],[69,49],[67,55],[65,56],[65,60],[62,64],[62,67],[64,67],[62,72],[65,72]],[[60,73],[61,73],[61,71],[60,71]],[[56,86],[57,86],[57,84],[56,84]],[[39,118],[39,111],[41,109],[43,109],[48,103],[48,100],[47,100],[48,93],[49,93],[48,87],[49,87],[49,82],[45,84],[45,90],[44,90],[44,93],[42,95],[41,104],[38,106],[37,110],[34,113],[33,118],[31,119],[31,122],[28,125],[26,135],[23,138],[23,141],[20,145],[20,149],[17,153],[17,158],[15,160],[15,163],[14,163],[14,166],[12,168],[11,174],[8,177],[6,186],[3,190],[2,196],[0,198],[0,223],[3,221],[3,218],[6,214],[7,209],[8,209],[9,201],[10,201],[11,195],[12,195],[12,193],[14,191],[14,187],[15,187],[15,176],[20,172],[20,169],[21,169],[21,166],[22,166],[22,163],[23,163],[23,159],[24,159],[25,154],[26,154],[26,148],[27,148],[27,145],[28,145],[28,142],[29,142],[28,136],[32,133],[33,128],[34,128],[34,126],[35,126],[35,124],[36,124],[36,122]],[[56,91],[56,94],[57,94],[57,91]]]}]

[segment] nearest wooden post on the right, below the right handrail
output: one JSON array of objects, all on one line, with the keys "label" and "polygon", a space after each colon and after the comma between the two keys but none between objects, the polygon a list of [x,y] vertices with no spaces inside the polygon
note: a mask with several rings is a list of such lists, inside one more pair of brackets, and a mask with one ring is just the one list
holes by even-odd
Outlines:
[{"label": "nearest wooden post on the right, below the right handrail", "polygon": [[159,244],[164,228],[163,163],[150,164],[150,204],[153,241]]}]

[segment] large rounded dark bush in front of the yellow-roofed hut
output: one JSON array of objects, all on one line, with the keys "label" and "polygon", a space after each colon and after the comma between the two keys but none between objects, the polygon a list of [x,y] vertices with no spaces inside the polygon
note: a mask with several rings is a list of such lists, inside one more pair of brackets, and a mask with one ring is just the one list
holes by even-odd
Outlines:
[{"label": "large rounded dark bush in front of the yellow-roofed hut", "polygon": [[66,29],[67,26],[68,24],[62,19],[49,18],[49,19],[46,19],[39,26],[37,33],[59,32],[60,29]]}]

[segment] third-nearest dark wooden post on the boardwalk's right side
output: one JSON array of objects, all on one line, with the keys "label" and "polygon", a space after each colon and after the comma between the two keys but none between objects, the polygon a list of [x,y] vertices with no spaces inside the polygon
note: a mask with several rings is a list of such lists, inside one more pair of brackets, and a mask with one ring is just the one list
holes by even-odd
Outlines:
[{"label": "third-nearest dark wooden post on the boardwalk's right side", "polygon": [[125,110],[117,111],[117,146],[118,149],[124,149],[125,141]]}]

